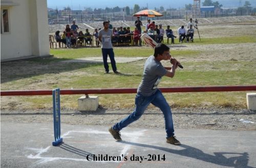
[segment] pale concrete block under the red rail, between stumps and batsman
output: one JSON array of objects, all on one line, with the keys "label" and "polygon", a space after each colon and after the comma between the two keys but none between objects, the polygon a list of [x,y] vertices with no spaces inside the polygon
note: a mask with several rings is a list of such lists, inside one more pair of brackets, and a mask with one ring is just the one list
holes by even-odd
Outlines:
[{"label": "pale concrete block under the red rail, between stumps and batsman", "polygon": [[78,111],[96,111],[99,106],[97,96],[82,96],[78,99]]}]

